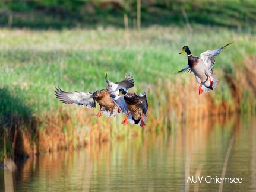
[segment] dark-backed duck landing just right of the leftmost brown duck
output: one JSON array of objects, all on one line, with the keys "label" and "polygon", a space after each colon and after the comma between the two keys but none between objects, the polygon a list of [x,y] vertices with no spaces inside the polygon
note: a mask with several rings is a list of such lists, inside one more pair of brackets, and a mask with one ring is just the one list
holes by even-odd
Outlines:
[{"label": "dark-backed duck landing just right of the leftmost brown duck", "polygon": [[148,109],[146,93],[143,92],[143,94],[138,95],[135,93],[128,93],[124,89],[119,89],[119,96],[121,95],[123,95],[127,106],[127,108],[122,111],[127,114],[127,116],[121,124],[128,124],[129,120],[129,123],[137,124],[141,127],[146,125],[145,122]]}]

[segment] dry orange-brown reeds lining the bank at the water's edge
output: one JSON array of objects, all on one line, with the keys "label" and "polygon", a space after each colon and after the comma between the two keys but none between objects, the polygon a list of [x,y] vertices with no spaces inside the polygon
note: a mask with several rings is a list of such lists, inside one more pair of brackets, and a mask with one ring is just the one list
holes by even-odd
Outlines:
[{"label": "dry orange-brown reeds lining the bank at the water's edge", "polygon": [[[18,142],[15,139],[15,146],[12,148],[17,149],[17,146],[22,146],[22,149],[18,148],[18,153],[28,155],[59,149],[74,149],[93,142],[137,137],[147,132],[151,134],[165,132],[181,122],[191,125],[204,117],[235,113],[246,105],[242,103],[245,100],[242,97],[246,96],[244,86],[251,87],[252,92],[256,89],[254,81],[250,79],[255,76],[253,75],[255,58],[252,57],[251,62],[246,61],[244,71],[238,70],[235,76],[225,76],[232,92],[232,101],[216,102],[214,97],[218,97],[218,92],[222,91],[221,82],[214,91],[198,95],[194,75],[188,75],[187,79],[177,77],[172,81],[159,78],[156,85],[141,85],[145,87],[148,98],[147,120],[143,128],[131,124],[122,126],[124,114],[114,118],[105,116],[97,118],[94,115],[98,108],[89,110],[83,107],[77,108],[75,105],[63,105],[58,110],[50,110],[36,117],[36,124],[30,123],[31,127],[36,127],[34,130],[36,133],[31,129],[17,129],[20,139]],[[238,81],[239,85],[244,86],[238,86]],[[255,110],[254,98],[248,96],[245,101],[249,103],[248,107]]]}]

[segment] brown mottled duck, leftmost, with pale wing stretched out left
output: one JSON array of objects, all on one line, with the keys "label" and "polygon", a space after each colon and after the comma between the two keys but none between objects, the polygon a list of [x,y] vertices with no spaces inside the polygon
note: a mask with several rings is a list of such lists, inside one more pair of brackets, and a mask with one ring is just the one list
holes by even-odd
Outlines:
[{"label": "brown mottled duck, leftmost, with pale wing stretched out left", "polygon": [[[100,105],[99,112],[95,115],[100,117],[104,114],[107,117],[115,117],[120,113],[118,105],[116,105],[110,97],[106,89],[91,92],[65,92],[61,88],[56,88],[56,97],[65,104],[82,105],[87,108],[96,108],[96,102]],[[104,107],[102,109],[102,107]]]}]

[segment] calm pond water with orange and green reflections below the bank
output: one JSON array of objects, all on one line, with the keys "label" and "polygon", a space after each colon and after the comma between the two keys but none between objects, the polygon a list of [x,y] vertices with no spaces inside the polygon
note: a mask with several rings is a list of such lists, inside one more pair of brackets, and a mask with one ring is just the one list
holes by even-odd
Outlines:
[{"label": "calm pond water with orange and green reflections below the bank", "polygon": [[[256,118],[214,122],[30,158],[18,164],[14,191],[217,191],[210,175],[221,177],[228,148],[225,178],[242,183],[223,183],[223,191],[256,191]],[[203,180],[191,183],[195,175]]]}]

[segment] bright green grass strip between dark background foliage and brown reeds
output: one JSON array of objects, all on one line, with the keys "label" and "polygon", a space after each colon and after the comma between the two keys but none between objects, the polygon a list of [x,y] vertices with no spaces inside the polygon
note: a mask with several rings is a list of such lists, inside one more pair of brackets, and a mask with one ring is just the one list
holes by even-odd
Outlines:
[{"label": "bright green grass strip between dark background foliage and brown reeds", "polygon": [[[130,31],[129,47],[124,30],[114,28],[3,29],[0,34],[0,86],[7,87],[36,115],[63,105],[53,94],[58,85],[66,91],[96,91],[105,88],[106,72],[112,81],[120,81],[125,73],[131,73],[136,92],[144,91],[148,84],[156,85],[159,78],[182,78],[187,83],[185,79],[191,74],[173,75],[186,66],[186,55],[179,55],[185,44],[193,55],[199,56],[205,50],[235,41],[216,57],[214,69],[218,70],[234,63],[243,65],[244,57],[255,54],[254,44],[250,43],[255,36],[225,28],[200,27],[187,36],[185,28],[150,27],[141,32]],[[196,91],[195,81],[191,86]]]}]

